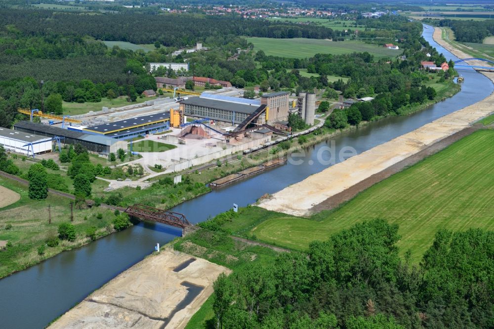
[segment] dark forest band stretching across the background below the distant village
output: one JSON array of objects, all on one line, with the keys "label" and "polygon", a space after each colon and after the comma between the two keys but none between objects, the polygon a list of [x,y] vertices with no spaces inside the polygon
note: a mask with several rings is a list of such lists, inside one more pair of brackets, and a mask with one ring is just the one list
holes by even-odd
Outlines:
[{"label": "dark forest band stretching across the background below the distant village", "polygon": [[[97,40],[154,43],[183,47],[204,41],[216,45],[229,34],[265,38],[331,39],[341,34],[329,28],[287,22],[243,19],[236,16],[200,14],[81,15],[49,10],[0,10],[0,26],[18,30],[23,35],[90,36]],[[228,33],[225,33],[228,31]]]}]

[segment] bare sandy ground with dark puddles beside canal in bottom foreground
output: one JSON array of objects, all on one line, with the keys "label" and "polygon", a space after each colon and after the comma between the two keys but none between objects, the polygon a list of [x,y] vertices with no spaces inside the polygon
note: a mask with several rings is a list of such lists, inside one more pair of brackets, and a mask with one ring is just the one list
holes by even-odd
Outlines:
[{"label": "bare sandy ground with dark puddles beside canal in bottom foreground", "polygon": [[49,328],[184,328],[225,267],[162,249],[86,297]]}]

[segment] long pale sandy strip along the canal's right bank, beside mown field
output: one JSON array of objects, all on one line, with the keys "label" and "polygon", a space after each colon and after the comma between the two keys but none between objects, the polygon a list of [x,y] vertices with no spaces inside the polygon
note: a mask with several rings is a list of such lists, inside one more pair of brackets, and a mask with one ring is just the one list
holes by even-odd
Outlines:
[{"label": "long pale sandy strip along the canal's right bank, beside mown field", "polygon": [[[435,35],[437,33],[435,31]],[[439,38],[441,33],[439,31]],[[439,43],[439,42],[438,42]],[[453,51],[452,51],[453,52]],[[456,56],[463,56],[455,54]],[[466,55],[465,55],[466,56]],[[465,57],[462,57],[465,58]],[[494,73],[484,72],[494,82]],[[259,206],[296,216],[494,112],[494,94],[290,185]]]}]

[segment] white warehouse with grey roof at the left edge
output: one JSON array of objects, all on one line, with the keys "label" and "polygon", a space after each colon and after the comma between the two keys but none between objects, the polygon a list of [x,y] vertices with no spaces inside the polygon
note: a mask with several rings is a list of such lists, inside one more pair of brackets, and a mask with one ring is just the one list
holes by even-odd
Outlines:
[{"label": "white warehouse with grey roof at the left edge", "polygon": [[0,128],[0,145],[6,151],[25,155],[51,152],[51,138],[32,135],[27,132]]}]

